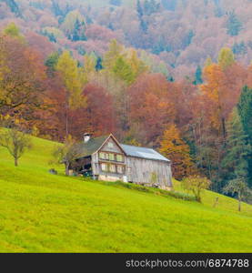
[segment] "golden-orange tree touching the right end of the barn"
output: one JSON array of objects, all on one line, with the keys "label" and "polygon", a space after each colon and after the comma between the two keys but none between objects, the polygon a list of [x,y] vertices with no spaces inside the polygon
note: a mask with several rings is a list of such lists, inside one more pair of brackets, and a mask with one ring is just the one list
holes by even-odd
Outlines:
[{"label": "golden-orange tree touching the right end of the barn", "polygon": [[172,161],[173,176],[177,180],[182,180],[194,172],[190,148],[180,136],[179,130],[175,125],[169,126],[160,142],[159,151]]}]

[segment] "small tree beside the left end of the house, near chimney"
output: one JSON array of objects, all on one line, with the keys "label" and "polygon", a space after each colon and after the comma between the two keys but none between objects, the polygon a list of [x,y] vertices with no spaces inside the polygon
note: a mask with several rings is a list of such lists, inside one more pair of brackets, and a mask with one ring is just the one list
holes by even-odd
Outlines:
[{"label": "small tree beside the left end of the house, near chimney", "polygon": [[69,176],[69,167],[75,162],[77,157],[80,157],[80,151],[76,145],[76,142],[71,136],[68,136],[64,145],[55,147],[53,157],[55,157],[55,163],[65,164],[66,176]]}]

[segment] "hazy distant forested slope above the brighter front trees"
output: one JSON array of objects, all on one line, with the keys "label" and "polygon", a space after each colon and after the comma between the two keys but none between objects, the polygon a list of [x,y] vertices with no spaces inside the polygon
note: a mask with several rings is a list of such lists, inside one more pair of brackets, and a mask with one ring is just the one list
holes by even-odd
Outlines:
[{"label": "hazy distant forested slope above the brighter front trees", "polygon": [[[1,3],[2,2],[2,3]],[[76,58],[87,52],[102,56],[111,38],[153,54],[166,75],[193,77],[208,56],[217,60],[223,46],[237,60],[252,59],[250,0],[1,0],[1,25],[15,20],[27,33],[49,36],[56,47]],[[76,11],[77,10],[77,11]],[[77,35],[76,17],[85,35]],[[81,27],[80,27],[81,28]],[[143,53],[144,54],[144,53]],[[165,62],[163,64],[162,62]]]}]

